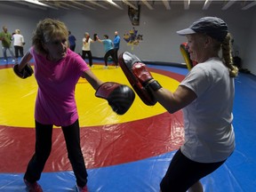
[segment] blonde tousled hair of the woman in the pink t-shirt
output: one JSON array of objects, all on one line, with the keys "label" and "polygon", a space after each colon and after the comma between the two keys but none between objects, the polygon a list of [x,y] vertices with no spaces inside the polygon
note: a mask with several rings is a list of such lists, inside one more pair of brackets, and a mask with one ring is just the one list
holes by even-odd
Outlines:
[{"label": "blonde tousled hair of the woman in the pink t-shirt", "polygon": [[48,52],[44,50],[44,43],[50,42],[56,36],[64,37],[68,39],[68,28],[60,20],[54,19],[44,19],[40,20],[32,37],[32,45],[34,46],[36,52],[41,54],[47,54]]}]

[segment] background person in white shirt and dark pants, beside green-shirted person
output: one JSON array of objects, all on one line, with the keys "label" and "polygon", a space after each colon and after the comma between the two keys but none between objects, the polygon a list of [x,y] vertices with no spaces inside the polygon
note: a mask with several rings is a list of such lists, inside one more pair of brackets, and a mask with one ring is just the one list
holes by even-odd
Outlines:
[{"label": "background person in white shirt and dark pants, beside green-shirted person", "polygon": [[23,46],[25,44],[24,37],[20,34],[20,29],[15,30],[15,34],[12,36],[14,52],[15,52],[15,60],[18,61],[19,52],[20,57],[23,57]]}]

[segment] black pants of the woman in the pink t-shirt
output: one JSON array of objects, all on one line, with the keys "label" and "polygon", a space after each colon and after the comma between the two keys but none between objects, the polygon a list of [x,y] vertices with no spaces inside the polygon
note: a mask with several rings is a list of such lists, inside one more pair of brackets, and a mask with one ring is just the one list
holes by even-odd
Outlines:
[{"label": "black pants of the woman in the pink t-shirt", "polygon": [[[28,163],[24,179],[28,182],[40,180],[44,170],[44,164],[52,150],[52,124],[40,124],[36,122],[36,152]],[[76,176],[76,184],[84,187],[87,183],[87,171],[84,164],[84,156],[80,147],[80,128],[78,120],[67,127],[61,127],[66,140],[68,159]]]}]

